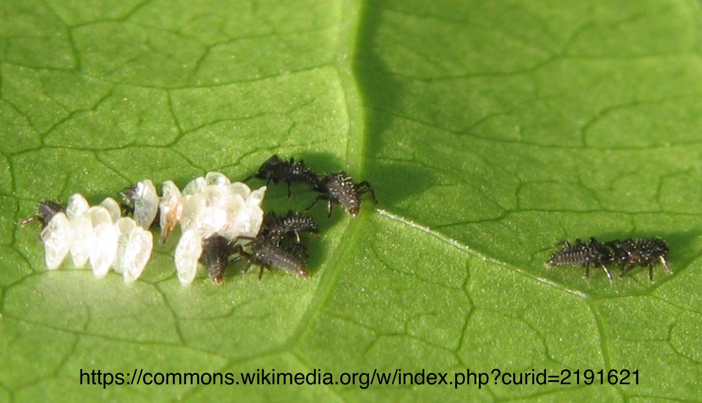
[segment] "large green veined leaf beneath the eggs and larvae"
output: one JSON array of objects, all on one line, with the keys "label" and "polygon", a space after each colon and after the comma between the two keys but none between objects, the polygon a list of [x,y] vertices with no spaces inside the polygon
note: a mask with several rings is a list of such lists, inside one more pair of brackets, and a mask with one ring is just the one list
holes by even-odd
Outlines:
[{"label": "large green veined leaf beneath the eggs and larvae", "polygon": [[[702,394],[698,2],[98,3],[0,7],[0,401]],[[271,154],[379,199],[354,219],[314,206],[305,279],[232,270],[215,286],[201,270],[181,286],[173,239],[135,284],[50,272],[38,228],[16,225],[39,199],[239,179]],[[313,197],[271,185],[265,208]],[[656,236],[675,274],[652,283],[543,267],[562,239]],[[470,369],[489,384],[81,385],[98,369]],[[494,369],[581,383],[501,385]],[[638,385],[609,385],[611,369]]]}]

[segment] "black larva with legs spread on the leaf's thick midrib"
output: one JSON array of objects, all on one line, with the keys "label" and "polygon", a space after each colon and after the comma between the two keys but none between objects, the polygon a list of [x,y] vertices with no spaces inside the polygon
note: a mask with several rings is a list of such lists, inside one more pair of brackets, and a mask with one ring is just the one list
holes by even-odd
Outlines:
[{"label": "black larva with legs spread on the leaf's thick midrib", "polygon": [[361,196],[364,193],[370,193],[375,204],[378,204],[376,194],[373,192],[371,184],[365,180],[359,183],[353,183],[353,180],[344,171],[331,173],[325,176],[319,182],[319,185],[314,187],[314,190],[320,192],[312,204],[307,206],[307,209],[312,208],[319,200],[326,200],[326,209],[331,217],[331,204],[337,203],[346,209],[352,217],[358,215],[361,209]]}]

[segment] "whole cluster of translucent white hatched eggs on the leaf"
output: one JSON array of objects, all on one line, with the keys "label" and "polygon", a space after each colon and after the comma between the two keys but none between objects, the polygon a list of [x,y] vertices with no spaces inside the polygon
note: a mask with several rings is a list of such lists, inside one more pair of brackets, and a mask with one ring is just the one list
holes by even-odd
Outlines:
[{"label": "whole cluster of translucent white hatched eggs on the leaf", "polygon": [[46,265],[57,268],[70,252],[76,267],[90,260],[95,276],[107,275],[112,267],[132,282],[150,259],[153,236],[149,228],[159,215],[161,244],[180,224],[183,235],[176,246],[176,271],[182,284],[190,284],[204,239],[220,235],[236,242],[238,237],[256,237],[263,223],[260,204],[265,190],[264,186],[251,191],[223,173],[208,172],[192,180],[183,192],[167,180],[159,197],[152,181],[146,179],[126,190],[133,203],[132,218],[121,217],[114,199],[91,207],[83,196],[74,194],[65,213],[55,213],[41,232]]}]

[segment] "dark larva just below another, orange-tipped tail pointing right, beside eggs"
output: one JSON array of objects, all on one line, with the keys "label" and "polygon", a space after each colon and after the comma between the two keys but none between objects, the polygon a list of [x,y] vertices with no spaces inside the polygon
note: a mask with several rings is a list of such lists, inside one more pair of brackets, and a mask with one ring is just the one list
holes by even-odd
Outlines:
[{"label": "dark larva just below another, orange-tipped tail pointing right, beside eggs", "polygon": [[[239,237],[237,240],[246,239],[244,237]],[[301,244],[298,244],[301,246]],[[260,267],[260,272],[258,272],[258,279],[263,276],[263,269],[278,269],[284,272],[290,272],[300,276],[307,275],[307,265],[302,256],[300,256],[300,249],[292,249],[290,247],[285,247],[279,245],[273,239],[268,237],[256,237],[251,239],[248,244],[244,244],[246,248],[251,249],[251,252],[244,251],[244,247],[237,244],[234,246],[234,253],[238,253],[239,256],[232,260],[232,263],[236,263],[241,259],[246,259],[246,267],[244,267],[244,272],[249,270],[251,265],[257,265]],[[304,249],[304,247],[303,247]]]}]

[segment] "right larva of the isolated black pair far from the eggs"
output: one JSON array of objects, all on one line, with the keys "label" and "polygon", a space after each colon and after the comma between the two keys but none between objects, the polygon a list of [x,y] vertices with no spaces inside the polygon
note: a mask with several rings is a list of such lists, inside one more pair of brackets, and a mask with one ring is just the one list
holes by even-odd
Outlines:
[{"label": "right larva of the isolated black pair far from the eggs", "polygon": [[663,265],[666,272],[672,274],[668,260],[665,256],[668,254],[668,244],[661,238],[644,238],[644,239],[618,239],[607,242],[612,250],[612,258],[615,263],[621,267],[621,275],[625,275],[634,267],[648,267],[649,280],[654,280],[654,266],[657,263]]}]

